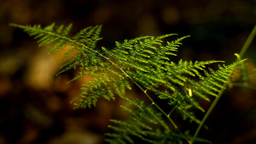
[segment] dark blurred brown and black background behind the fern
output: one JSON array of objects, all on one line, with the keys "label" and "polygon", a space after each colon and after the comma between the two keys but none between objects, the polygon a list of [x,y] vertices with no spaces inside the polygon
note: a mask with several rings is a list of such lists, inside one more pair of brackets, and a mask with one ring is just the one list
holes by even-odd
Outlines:
[{"label": "dark blurred brown and black background behind the fern", "polygon": [[[39,48],[25,32],[8,25],[52,22],[73,23],[72,34],[86,26],[103,25],[104,39],[98,46],[108,48],[114,47],[114,41],[141,35],[191,35],[183,41],[178,58],[230,64],[256,23],[256,1],[1,0],[0,144],[104,143],[104,133],[110,131],[108,119],[128,118],[119,107],[125,103],[118,98],[99,100],[92,109],[73,110],[69,101],[79,93],[81,83],[92,77],[66,85],[75,72],[55,77],[63,53],[48,55],[51,46]],[[248,68],[255,68],[255,40],[246,58]],[[213,143],[256,143],[255,94],[253,89],[228,89],[207,119],[209,130],[199,136]],[[130,91],[128,95],[139,94]],[[208,109],[210,103],[202,105]],[[197,125],[178,124],[195,133]]]}]

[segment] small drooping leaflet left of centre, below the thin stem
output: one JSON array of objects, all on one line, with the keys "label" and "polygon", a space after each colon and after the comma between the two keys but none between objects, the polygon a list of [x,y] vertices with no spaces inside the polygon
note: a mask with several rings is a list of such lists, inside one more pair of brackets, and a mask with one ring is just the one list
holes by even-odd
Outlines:
[{"label": "small drooping leaflet left of centre, below the thin stem", "polygon": [[[111,77],[108,74],[94,74],[96,77],[83,85],[82,91],[72,102],[75,108],[96,106],[99,98],[114,100],[114,95],[124,97],[125,89],[131,89],[130,84],[120,77]],[[76,101],[78,100],[78,101]]]}]

